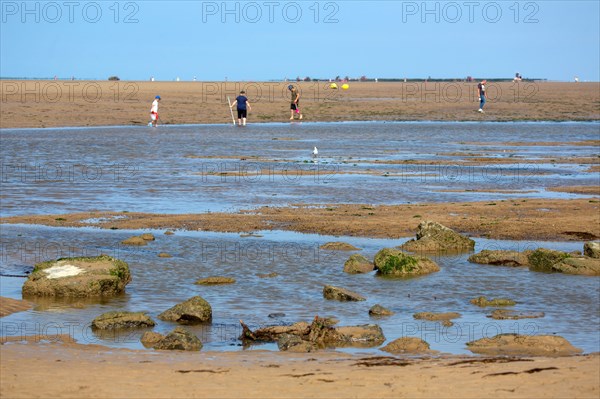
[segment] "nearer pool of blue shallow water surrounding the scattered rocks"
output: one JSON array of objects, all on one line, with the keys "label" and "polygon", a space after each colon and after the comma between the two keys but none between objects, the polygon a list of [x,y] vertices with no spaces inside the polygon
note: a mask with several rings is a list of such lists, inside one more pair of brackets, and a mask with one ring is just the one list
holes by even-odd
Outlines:
[{"label": "nearer pool of blue shallow water surrounding the scattered rocks", "polygon": [[[23,274],[28,265],[61,256],[95,256],[108,253],[127,261],[132,282],[126,294],[98,303],[75,303],[37,299],[33,310],[1,319],[2,336],[35,335],[52,339],[70,332],[84,343],[114,347],[142,348],[143,330],[98,335],[91,321],[111,310],[145,311],[158,324],[154,331],[166,333],[175,323],[156,318],[162,311],[194,295],[205,298],[213,308],[212,324],[187,327],[203,341],[207,350],[238,350],[241,333],[238,320],[250,326],[310,322],[315,315],[335,316],[340,325],[377,323],[388,340],[417,336],[432,348],[450,353],[468,353],[469,340],[498,333],[558,334],[586,352],[598,351],[600,280],[595,277],[534,273],[527,269],[483,266],[467,262],[469,254],[434,256],[441,271],[413,279],[387,279],[374,273],[348,275],[343,264],[352,252],[327,251],[319,246],[342,239],[372,258],[383,247],[404,240],[326,237],[290,232],[261,232],[263,237],[241,238],[238,234],[177,232],[167,236],[153,231],[156,241],[146,247],[128,247],[120,241],[137,233],[93,228],[67,229],[39,226],[3,226],[3,272]],[[580,250],[581,243],[513,242],[477,239],[482,249],[525,250],[538,246]],[[172,258],[159,258],[167,252]],[[276,272],[273,278],[259,274]],[[233,285],[204,287],[194,285],[212,275],[234,277]],[[20,297],[24,278],[0,277],[0,295]],[[323,286],[332,284],[356,291],[364,302],[325,300]],[[516,300],[518,311],[545,312],[545,317],[526,320],[492,320],[492,309],[479,308],[470,299],[508,297]],[[373,318],[368,310],[381,304],[395,315]],[[459,312],[453,327],[414,320],[416,312]],[[285,313],[270,318],[269,314]],[[276,349],[275,345],[259,348]],[[345,349],[352,351],[352,349]],[[354,349],[361,352],[367,349]],[[377,348],[371,349],[377,351]]]}]

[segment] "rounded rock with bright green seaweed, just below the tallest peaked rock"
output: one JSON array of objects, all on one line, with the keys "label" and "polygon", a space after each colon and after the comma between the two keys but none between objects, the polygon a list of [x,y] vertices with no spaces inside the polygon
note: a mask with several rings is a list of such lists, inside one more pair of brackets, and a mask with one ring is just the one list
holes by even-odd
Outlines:
[{"label": "rounded rock with bright green seaweed, just below the tallest peaked rock", "polygon": [[384,248],[375,255],[375,268],[385,276],[409,277],[437,272],[440,267],[429,258],[411,256],[399,249]]}]

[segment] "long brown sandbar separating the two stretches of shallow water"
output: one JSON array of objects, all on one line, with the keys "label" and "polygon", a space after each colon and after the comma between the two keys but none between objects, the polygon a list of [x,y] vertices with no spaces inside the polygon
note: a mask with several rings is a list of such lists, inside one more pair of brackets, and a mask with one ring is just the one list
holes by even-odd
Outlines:
[{"label": "long brown sandbar separating the two stretches of shallow water", "polygon": [[[108,221],[88,221],[98,218]],[[437,221],[473,237],[506,240],[595,240],[600,237],[600,199],[515,199],[379,206],[291,204],[289,207],[262,207],[237,213],[186,215],[82,212],[68,215],[14,216],[0,218],[0,223],[240,233],[290,230],[325,235],[400,238],[413,236],[423,220]]]}]

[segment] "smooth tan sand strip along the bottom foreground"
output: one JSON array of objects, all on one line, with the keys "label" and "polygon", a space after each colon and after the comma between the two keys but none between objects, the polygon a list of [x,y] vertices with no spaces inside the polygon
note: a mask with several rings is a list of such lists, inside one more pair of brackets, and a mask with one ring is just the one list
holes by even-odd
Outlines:
[{"label": "smooth tan sand strip along the bottom foreground", "polygon": [[0,346],[3,398],[597,398],[598,354],[401,358],[182,353],[61,343]]}]

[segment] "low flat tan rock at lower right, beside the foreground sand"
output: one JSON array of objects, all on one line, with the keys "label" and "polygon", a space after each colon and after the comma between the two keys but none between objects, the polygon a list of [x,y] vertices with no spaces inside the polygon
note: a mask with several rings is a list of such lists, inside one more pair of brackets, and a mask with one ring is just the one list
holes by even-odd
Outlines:
[{"label": "low flat tan rock at lower right, beside the foreground sand", "polygon": [[571,356],[581,353],[558,335],[500,334],[467,342],[473,353],[490,356]]}]

